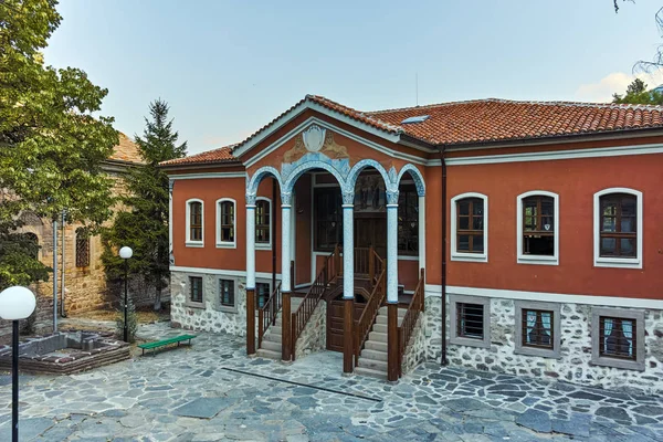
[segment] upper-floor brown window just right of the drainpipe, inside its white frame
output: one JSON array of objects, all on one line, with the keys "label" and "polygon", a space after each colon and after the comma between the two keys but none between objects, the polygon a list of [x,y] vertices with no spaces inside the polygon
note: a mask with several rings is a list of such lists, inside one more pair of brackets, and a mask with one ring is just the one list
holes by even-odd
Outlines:
[{"label": "upper-floor brown window just right of the drainpipe, inside its white frame", "polygon": [[484,202],[480,198],[456,201],[456,251],[484,252]]}]

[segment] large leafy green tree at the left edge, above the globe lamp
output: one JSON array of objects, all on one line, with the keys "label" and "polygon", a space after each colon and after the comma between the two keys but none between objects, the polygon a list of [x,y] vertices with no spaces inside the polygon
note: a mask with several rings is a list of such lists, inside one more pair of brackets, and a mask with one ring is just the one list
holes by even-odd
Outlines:
[{"label": "large leafy green tree at the left edge, above the globe lamp", "polygon": [[0,244],[12,250],[11,272],[21,275],[12,283],[45,278],[49,270],[20,246],[22,210],[57,219],[66,209],[70,222],[94,229],[113,204],[101,164],[118,136],[113,118],[93,117],[107,91],[78,69],[45,65],[40,52],[62,20],[56,4],[0,1]]}]

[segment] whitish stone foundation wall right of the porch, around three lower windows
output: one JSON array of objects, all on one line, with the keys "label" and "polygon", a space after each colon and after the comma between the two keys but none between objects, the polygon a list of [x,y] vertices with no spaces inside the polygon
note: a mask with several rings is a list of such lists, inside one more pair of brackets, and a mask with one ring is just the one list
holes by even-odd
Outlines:
[{"label": "whitish stone foundation wall right of the porch, around three lower windows", "polygon": [[[427,360],[441,358],[441,301],[430,296],[425,312]],[[478,370],[529,376],[548,380],[607,389],[632,390],[648,394],[663,391],[663,314],[644,311],[645,369],[644,371],[602,367],[591,364],[591,309],[583,304],[561,304],[561,343],[559,359],[515,354],[515,302],[491,298],[490,348],[448,345],[448,360],[452,366]],[[632,309],[643,312],[642,309]],[[448,314],[450,306],[448,303]],[[448,339],[450,336],[446,324]]]}]

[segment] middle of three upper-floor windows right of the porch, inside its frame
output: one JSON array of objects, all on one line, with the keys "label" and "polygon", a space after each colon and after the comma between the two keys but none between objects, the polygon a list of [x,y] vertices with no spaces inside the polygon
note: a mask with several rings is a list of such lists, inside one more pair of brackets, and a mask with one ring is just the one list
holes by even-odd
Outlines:
[{"label": "middle of three upper-floor windows right of the porch, inside its frame", "polygon": [[534,196],[523,199],[523,254],[555,255],[555,199]]}]

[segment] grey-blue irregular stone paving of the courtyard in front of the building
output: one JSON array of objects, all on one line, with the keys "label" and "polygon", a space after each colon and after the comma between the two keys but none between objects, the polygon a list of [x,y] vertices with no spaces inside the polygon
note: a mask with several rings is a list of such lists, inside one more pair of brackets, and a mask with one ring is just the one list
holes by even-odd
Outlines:
[{"label": "grey-blue irregular stone paving of the courtyard in front of the building", "polygon": [[[160,323],[145,338],[181,330]],[[429,364],[397,385],[341,376],[341,355],[292,365],[201,333],[191,348],[85,373],[21,377],[21,440],[663,441],[663,400]],[[11,403],[0,377],[0,403]],[[0,440],[11,411],[0,409]]]}]

